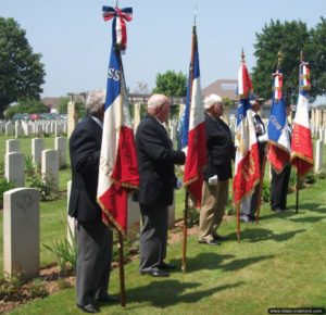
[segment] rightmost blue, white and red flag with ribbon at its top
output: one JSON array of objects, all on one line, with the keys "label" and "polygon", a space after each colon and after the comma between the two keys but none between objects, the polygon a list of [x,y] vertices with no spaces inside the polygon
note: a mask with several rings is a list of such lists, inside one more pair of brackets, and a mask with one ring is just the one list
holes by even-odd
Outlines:
[{"label": "rightmost blue, white and red flag with ribbon at its top", "polygon": [[300,64],[299,80],[299,99],[292,124],[291,164],[297,168],[299,176],[304,176],[314,165],[309,122],[310,70],[305,62]]}]

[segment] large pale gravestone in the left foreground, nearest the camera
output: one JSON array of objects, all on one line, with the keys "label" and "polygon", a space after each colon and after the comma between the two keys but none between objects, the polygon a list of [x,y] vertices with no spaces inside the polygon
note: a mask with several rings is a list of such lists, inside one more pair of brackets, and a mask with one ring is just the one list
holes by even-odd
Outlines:
[{"label": "large pale gravestone in the left foreground, nearest the camera", "polygon": [[16,188],[3,194],[3,273],[30,279],[39,275],[39,194]]}]

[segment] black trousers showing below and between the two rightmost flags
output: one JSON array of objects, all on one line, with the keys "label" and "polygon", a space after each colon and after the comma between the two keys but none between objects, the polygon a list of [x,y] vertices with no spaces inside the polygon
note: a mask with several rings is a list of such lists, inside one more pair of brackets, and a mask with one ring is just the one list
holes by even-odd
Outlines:
[{"label": "black trousers showing below and between the two rightmost flags", "polygon": [[272,209],[276,209],[276,207],[280,207],[283,210],[286,209],[290,175],[291,175],[290,164],[287,164],[279,174],[277,174],[272,167],[272,181],[271,181]]}]

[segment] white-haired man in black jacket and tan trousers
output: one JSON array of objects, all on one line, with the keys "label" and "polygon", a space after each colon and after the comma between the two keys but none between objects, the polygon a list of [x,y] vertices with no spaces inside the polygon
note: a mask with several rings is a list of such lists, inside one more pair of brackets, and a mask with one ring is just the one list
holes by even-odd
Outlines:
[{"label": "white-haired man in black jacket and tan trousers", "polygon": [[235,146],[231,133],[223,115],[222,98],[210,94],[204,99],[206,155],[202,186],[202,204],[199,222],[199,243],[217,245],[225,238],[217,234],[228,198],[228,181],[231,178],[231,160]]}]

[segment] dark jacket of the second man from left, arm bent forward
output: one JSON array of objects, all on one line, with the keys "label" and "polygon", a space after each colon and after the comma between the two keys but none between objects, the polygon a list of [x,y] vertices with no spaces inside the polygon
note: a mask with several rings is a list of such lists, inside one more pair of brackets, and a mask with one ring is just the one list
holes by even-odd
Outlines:
[{"label": "dark jacket of the second man from left, arm bent forward", "polygon": [[165,128],[151,115],[147,115],[137,128],[136,147],[139,203],[150,206],[172,204],[176,182],[174,164],[184,164],[185,153],[173,150]]}]

